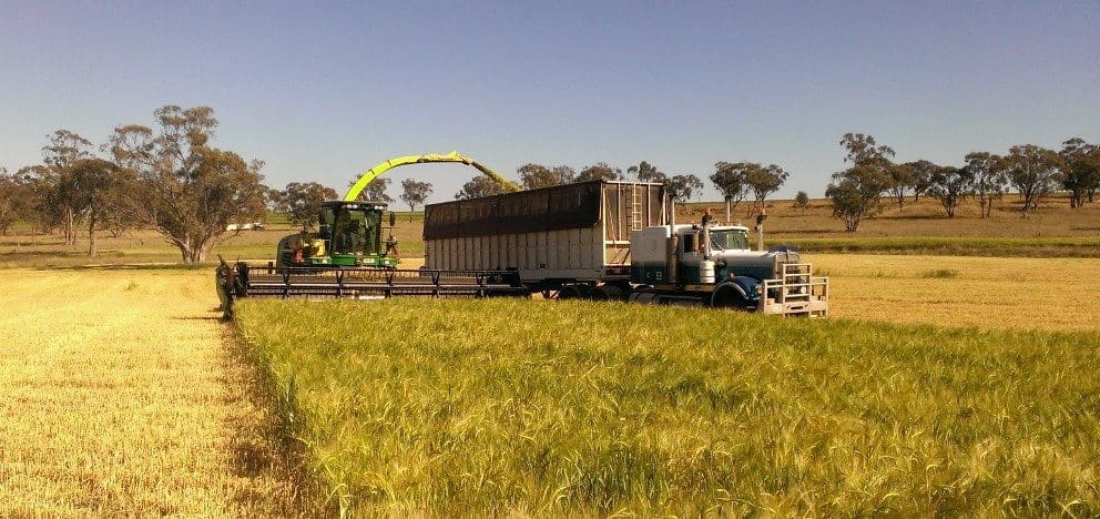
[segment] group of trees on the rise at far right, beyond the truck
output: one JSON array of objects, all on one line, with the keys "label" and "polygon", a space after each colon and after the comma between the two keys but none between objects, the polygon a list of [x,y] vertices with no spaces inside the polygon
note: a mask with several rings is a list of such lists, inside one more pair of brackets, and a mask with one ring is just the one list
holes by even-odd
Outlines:
[{"label": "group of trees on the rise at far right, beyond the truck", "polygon": [[851,163],[833,174],[825,196],[833,205],[833,216],[841,218],[849,232],[859,223],[882,212],[882,199],[892,199],[898,211],[921,195],[939,201],[945,215],[954,218],[967,199],[978,203],[979,215],[988,218],[994,204],[1015,189],[1020,196],[1023,216],[1039,208],[1039,203],[1058,189],[1069,192],[1070,207],[1092,202],[1100,189],[1100,146],[1072,138],[1059,151],[1035,144],[1010,146],[1008,153],[970,152],[961,166],[938,165],[925,160],[895,163],[894,149],[880,145],[872,135],[846,133],[841,138]]}]

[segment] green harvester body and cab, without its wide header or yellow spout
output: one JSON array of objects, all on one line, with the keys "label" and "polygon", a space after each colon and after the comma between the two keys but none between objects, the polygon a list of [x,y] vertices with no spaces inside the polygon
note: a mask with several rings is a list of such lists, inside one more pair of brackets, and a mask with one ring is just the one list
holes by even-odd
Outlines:
[{"label": "green harvester body and cab, without its wide header or yellow spout", "polygon": [[[278,243],[276,266],[282,267],[381,267],[397,266],[381,238],[380,202],[325,202],[317,215],[318,232],[303,230]],[[394,225],[390,213],[390,227]]]}]

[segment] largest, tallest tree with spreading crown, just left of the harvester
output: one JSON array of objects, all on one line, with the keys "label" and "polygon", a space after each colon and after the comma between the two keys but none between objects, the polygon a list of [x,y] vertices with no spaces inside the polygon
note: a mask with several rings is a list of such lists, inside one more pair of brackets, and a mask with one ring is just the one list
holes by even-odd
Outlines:
[{"label": "largest, tallest tree with spreading crown, just left of the harvester", "polygon": [[135,173],[144,221],[180,250],[184,263],[200,263],[231,221],[263,214],[264,163],[210,144],[217,119],[208,106],[166,105],[153,115],[155,134],[119,126],[105,147],[116,165]]}]

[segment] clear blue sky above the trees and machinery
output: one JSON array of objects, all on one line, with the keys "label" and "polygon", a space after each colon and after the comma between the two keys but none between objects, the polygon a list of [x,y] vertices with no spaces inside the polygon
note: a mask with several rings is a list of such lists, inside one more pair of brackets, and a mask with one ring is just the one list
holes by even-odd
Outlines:
[{"label": "clear blue sky above the trees and machinery", "polygon": [[[822,196],[837,142],[957,164],[1100,141],[1100,2],[2,2],[0,166],[64,128],[102,143],[165,104],[269,185],[343,191],[458,150],[506,176],[649,161],[706,179],[776,163]],[[475,173],[395,170],[449,200]],[[716,200],[707,182],[704,199]]]}]

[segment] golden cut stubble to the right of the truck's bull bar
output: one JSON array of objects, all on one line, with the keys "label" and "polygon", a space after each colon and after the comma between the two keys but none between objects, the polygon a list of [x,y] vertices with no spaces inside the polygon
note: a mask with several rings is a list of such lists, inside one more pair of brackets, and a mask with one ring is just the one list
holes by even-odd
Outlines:
[{"label": "golden cut stubble to the right of the truck's bull bar", "polygon": [[1086,258],[812,254],[831,315],[889,323],[1096,330],[1100,262]]}]

